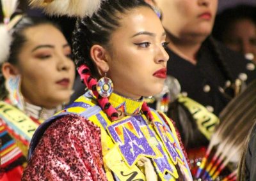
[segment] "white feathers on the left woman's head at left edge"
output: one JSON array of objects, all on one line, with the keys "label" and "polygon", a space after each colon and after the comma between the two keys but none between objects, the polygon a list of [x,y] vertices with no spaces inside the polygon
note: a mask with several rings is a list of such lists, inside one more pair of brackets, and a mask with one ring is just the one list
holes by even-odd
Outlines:
[{"label": "white feathers on the left woman's head at left edge", "polygon": [[0,64],[7,61],[10,54],[10,45],[12,43],[12,36],[8,32],[12,26],[9,24],[10,17],[15,12],[18,1],[17,0],[1,0],[4,24],[0,24]]}]

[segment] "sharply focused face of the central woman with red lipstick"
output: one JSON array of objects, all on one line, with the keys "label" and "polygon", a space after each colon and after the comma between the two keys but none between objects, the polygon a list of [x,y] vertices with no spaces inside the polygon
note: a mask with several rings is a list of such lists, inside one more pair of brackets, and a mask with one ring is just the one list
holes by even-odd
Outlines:
[{"label": "sharply focused face of the central woman with red lipstick", "polygon": [[161,92],[169,57],[163,26],[153,10],[141,7],[122,15],[109,44],[107,75],[116,92],[134,99]]}]

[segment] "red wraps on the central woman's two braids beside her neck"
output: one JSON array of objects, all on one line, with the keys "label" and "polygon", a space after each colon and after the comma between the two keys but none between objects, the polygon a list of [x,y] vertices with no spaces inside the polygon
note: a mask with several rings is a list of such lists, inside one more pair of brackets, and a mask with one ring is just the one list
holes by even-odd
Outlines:
[{"label": "red wraps on the central woman's two braids beside her neck", "polygon": [[[81,77],[81,81],[93,92],[93,95],[97,98],[99,106],[106,112],[108,117],[111,120],[118,119],[118,112],[116,109],[109,103],[108,98],[102,98],[102,96],[99,95],[99,92],[97,92],[96,86],[97,86],[97,80],[93,78],[92,73],[88,66],[85,64],[81,65],[78,69],[78,73]],[[150,108],[147,106],[147,103],[143,103],[141,107],[142,112],[146,115],[148,120],[153,120],[153,115],[150,112]]]}]

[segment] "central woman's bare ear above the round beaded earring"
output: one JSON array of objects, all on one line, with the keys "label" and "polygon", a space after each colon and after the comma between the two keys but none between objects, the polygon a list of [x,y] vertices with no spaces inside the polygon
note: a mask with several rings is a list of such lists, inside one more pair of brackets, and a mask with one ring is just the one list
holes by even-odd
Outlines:
[{"label": "central woman's bare ear above the round beaded earring", "polygon": [[99,75],[104,76],[104,73],[108,72],[108,58],[107,51],[100,45],[93,45],[90,50],[90,55],[94,64],[96,65]]}]

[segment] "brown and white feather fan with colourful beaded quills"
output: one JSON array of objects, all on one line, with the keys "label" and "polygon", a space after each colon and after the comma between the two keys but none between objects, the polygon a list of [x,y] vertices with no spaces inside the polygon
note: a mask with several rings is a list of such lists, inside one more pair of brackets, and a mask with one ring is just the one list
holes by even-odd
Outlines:
[{"label": "brown and white feather fan with colourful beaded quills", "polygon": [[[212,135],[197,178],[215,180],[228,163],[237,164],[256,118],[256,80],[247,89],[228,103],[221,112],[221,124]],[[236,170],[225,180],[236,179]]]}]

